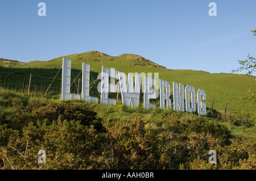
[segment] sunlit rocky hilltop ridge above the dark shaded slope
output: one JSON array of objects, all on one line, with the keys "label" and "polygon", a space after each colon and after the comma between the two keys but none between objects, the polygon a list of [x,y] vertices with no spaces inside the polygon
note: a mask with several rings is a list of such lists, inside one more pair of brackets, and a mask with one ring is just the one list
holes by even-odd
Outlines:
[{"label": "sunlit rocky hilltop ridge above the dark shaded slope", "polygon": [[[59,68],[59,66],[62,65],[62,58],[63,57],[57,57],[53,58],[49,61],[30,61],[27,63],[19,62],[15,60],[7,60],[3,59],[5,61],[1,62],[1,66],[9,67],[9,68]],[[117,69],[119,66],[132,66],[132,67],[140,67],[144,66],[146,68],[161,68],[166,69],[164,66],[160,66],[158,64],[155,64],[154,62],[136,55],[136,54],[121,54],[119,56],[109,56],[108,54],[101,53],[98,51],[89,51],[85,53],[77,53],[77,54],[71,54],[68,56],[64,56],[64,58],[69,58],[72,60],[72,68],[73,69],[81,69],[81,62],[88,62],[92,67],[95,66],[99,67],[97,71],[101,71],[101,66],[114,66],[114,68]]]}]

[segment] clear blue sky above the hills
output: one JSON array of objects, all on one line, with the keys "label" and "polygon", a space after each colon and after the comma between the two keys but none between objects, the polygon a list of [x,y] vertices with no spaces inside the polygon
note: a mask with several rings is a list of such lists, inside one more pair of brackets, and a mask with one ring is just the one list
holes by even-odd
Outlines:
[{"label": "clear blue sky above the hills", "polygon": [[[46,16],[38,16],[38,3]],[[217,16],[209,16],[210,2]],[[168,69],[230,73],[256,57],[255,0],[8,0],[0,57],[28,62],[98,50],[139,54]],[[255,73],[254,73],[255,75]]]}]

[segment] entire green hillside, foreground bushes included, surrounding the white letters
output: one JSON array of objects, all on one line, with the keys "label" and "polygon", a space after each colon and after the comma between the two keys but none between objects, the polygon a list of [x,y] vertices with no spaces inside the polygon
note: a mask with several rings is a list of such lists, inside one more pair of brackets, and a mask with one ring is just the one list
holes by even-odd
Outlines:
[{"label": "entire green hillside, foreground bushes included, surrounding the white letters", "polygon": [[[1,58],[0,170],[256,169],[255,107],[247,109],[250,102],[240,100],[255,86],[255,77],[171,70],[134,54],[113,57],[92,51],[65,57],[72,60],[71,82],[81,78],[82,62],[90,64],[91,81],[102,65],[125,73],[159,73],[170,84],[204,89],[207,107],[214,100],[215,110],[205,116],[162,110],[159,99],[158,107],[147,110],[143,104],[126,107],[120,99],[116,106],[60,102],[62,57],[28,63]],[[99,96],[96,86],[90,94]],[[227,113],[221,112],[225,103]],[[46,151],[46,164],[38,163],[39,150]],[[217,151],[216,164],[208,162],[209,150]]]}]

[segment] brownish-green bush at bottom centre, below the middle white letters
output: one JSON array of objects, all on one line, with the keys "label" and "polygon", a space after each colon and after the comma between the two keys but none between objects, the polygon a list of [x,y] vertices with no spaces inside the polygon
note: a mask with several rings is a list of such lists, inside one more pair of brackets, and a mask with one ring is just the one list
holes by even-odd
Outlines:
[{"label": "brownish-green bush at bottom centre, below the middle white letters", "polygon": [[154,169],[158,165],[158,144],[139,117],[108,121],[102,141],[103,169]]}]

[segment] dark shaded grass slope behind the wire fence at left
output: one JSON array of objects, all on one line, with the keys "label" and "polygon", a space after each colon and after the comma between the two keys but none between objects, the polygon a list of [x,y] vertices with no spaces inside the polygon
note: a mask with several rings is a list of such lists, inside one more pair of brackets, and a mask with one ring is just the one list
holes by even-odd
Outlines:
[{"label": "dark shaded grass slope behind the wire fence at left", "polygon": [[[3,89],[20,92],[37,92],[42,95],[61,94],[62,69],[10,69],[0,68],[0,87]],[[97,73],[90,74],[90,96],[100,98],[97,85]],[[31,78],[30,78],[31,76]],[[72,94],[81,94],[81,70],[72,69],[71,89]],[[117,93],[110,93],[109,98],[117,98]]]}]

